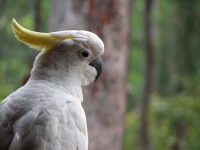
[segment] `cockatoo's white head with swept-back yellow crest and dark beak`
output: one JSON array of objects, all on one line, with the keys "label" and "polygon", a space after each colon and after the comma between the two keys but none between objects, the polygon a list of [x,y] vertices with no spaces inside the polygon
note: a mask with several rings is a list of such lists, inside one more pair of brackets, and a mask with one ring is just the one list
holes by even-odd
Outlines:
[{"label": "cockatoo's white head with swept-back yellow crest and dark beak", "polygon": [[104,44],[96,34],[83,30],[34,32],[15,19],[12,27],[21,42],[41,50],[32,69],[32,79],[87,85],[99,78]]}]

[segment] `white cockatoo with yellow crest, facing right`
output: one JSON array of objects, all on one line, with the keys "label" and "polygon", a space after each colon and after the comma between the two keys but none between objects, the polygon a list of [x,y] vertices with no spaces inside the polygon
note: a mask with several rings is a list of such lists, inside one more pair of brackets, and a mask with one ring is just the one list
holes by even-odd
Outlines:
[{"label": "white cockatoo with yellow crest, facing right", "polygon": [[41,52],[31,77],[0,104],[0,150],[87,150],[81,86],[102,71],[102,40],[94,33],[40,33],[12,22],[15,36]]}]

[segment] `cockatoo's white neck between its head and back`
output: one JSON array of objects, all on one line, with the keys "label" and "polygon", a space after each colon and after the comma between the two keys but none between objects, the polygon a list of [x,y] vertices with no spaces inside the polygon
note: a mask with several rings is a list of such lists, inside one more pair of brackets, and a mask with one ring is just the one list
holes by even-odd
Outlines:
[{"label": "cockatoo's white neck between its head and back", "polygon": [[52,64],[48,59],[41,59],[41,57],[46,56],[40,54],[36,57],[28,84],[39,82],[41,85],[51,86],[55,90],[63,91],[82,101],[83,95],[79,78],[73,72],[60,68],[60,66],[56,67],[56,64]]}]

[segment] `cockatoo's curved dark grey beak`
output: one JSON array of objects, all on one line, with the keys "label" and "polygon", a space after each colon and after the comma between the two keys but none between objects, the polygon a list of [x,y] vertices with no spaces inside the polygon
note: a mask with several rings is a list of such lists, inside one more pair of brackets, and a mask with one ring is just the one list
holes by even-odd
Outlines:
[{"label": "cockatoo's curved dark grey beak", "polygon": [[92,62],[90,62],[89,65],[96,68],[96,70],[97,70],[97,75],[95,78],[95,81],[96,81],[101,75],[101,72],[103,69],[103,61],[101,58],[97,58],[97,59],[93,60]]}]

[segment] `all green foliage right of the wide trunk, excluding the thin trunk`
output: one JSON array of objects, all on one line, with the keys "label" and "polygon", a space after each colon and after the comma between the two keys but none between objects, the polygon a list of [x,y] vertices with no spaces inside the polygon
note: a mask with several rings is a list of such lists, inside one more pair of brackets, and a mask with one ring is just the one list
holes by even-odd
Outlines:
[{"label": "all green foliage right of the wide trunk, excluding the thin trunk", "polygon": [[[156,88],[150,104],[149,134],[154,150],[199,150],[200,1],[154,1]],[[144,1],[134,0],[131,18],[124,150],[137,149],[138,102],[143,85]]]}]

